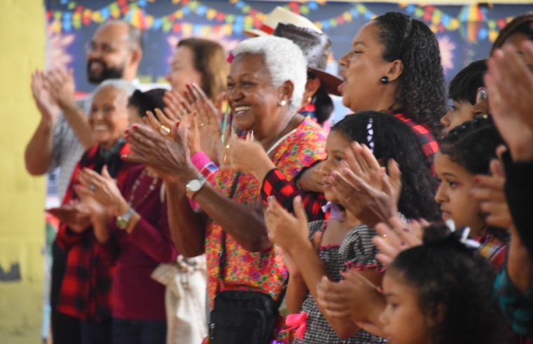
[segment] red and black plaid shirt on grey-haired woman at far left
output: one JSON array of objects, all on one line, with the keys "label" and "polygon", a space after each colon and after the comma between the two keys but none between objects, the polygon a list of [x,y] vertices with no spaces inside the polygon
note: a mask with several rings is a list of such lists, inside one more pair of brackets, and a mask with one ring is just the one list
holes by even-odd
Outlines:
[{"label": "red and black plaid shirt on grey-haired woman at far left", "polygon": [[[120,155],[130,152],[125,144],[113,155],[112,161],[104,162],[99,157],[99,146],[85,151],[72,174],[67,194],[62,204],[77,199],[74,186],[78,184],[78,172],[88,168],[100,172],[108,164],[109,174],[121,185],[127,171],[136,164],[122,162]],[[104,320],[111,317],[111,280],[113,268],[100,255],[92,227],[76,234],[67,224],[60,223],[56,241],[67,252],[65,269],[57,310],[81,320]]]}]

